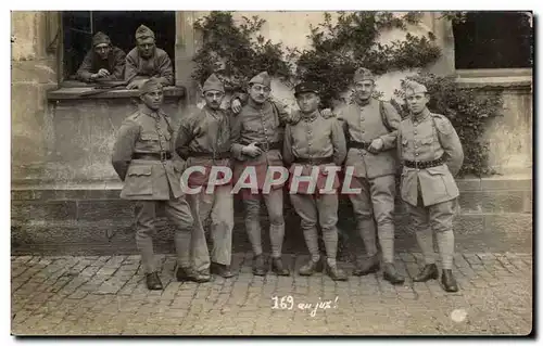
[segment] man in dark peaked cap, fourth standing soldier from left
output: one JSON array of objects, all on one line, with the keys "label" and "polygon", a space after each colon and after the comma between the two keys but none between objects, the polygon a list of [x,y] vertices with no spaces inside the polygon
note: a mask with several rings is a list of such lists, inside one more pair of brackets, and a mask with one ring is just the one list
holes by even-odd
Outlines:
[{"label": "man in dark peaked cap, fourth standing soldier from left", "polygon": [[[345,137],[337,118],[324,118],[318,111],[320,98],[315,84],[303,82],[295,87],[294,93],[301,110],[298,124],[287,125],[283,142],[283,159],[290,167],[291,177],[301,169],[303,177],[311,177],[313,169],[318,169],[316,191],[307,184],[296,189],[291,184],[290,200],[302,219],[301,226],[305,243],[311,254],[310,261],[300,268],[301,275],[312,275],[321,270],[318,248],[317,222],[323,230],[326,247],[326,269],[332,280],[346,280],[346,274],[336,262],[338,251],[338,194],[321,193],[325,189],[329,166],[339,166],[345,159]],[[291,183],[294,182],[293,178]],[[338,176],[331,189],[339,188]],[[301,185],[301,183],[300,183]]]}]

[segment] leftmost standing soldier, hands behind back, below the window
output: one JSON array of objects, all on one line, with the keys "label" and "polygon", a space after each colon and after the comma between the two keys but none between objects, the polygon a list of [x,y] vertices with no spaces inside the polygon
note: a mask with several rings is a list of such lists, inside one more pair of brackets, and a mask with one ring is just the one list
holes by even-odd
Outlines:
[{"label": "leftmost standing soldier, hands behind back, below the window", "polygon": [[190,268],[190,231],[193,225],[180,187],[184,162],[173,151],[172,119],[161,110],[164,101],[162,89],[155,78],[141,86],[142,104],[121,126],[112,158],[115,171],[125,182],[121,198],[137,201],[136,244],[141,253],[149,290],[163,289],[156,272],[152,241],[159,212],[165,212],[176,226],[177,279],[180,281],[187,279],[185,273]]}]

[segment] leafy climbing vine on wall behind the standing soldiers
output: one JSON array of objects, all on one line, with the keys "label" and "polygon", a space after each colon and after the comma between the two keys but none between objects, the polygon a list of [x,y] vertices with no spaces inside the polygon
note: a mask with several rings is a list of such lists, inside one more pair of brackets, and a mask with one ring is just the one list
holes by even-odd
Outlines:
[{"label": "leafy climbing vine on wall behind the standing soldiers", "polygon": [[[325,13],[324,23],[311,28],[311,49],[300,52],[283,51],[281,43],[257,35],[265,23],[257,16],[243,17],[241,24],[236,24],[231,12],[212,12],[194,24],[203,34],[203,47],[194,56],[197,67],[192,76],[203,84],[211,73],[216,73],[229,90],[247,87],[249,79],[262,71],[289,86],[312,80],[321,86],[323,106],[331,107],[334,102],[349,102],[342,94],[349,90],[354,72],[361,66],[381,75],[421,68],[441,55],[432,33],[428,33],[428,38],[406,33],[405,40],[390,44],[378,42],[383,29],[406,30],[407,25],[417,24],[419,12],[407,12],[402,17],[369,11],[338,14],[337,22],[332,23],[331,15]],[[464,13],[447,12],[444,17],[462,22]],[[409,79],[427,86],[431,94],[429,108],[447,116],[458,132],[465,152],[460,175],[492,174],[487,164],[489,146],[482,134],[485,120],[500,113],[501,97],[460,89],[453,77],[419,75]],[[396,95],[401,97],[401,91]],[[376,92],[376,97],[382,93]],[[404,105],[391,101],[406,116]]]}]

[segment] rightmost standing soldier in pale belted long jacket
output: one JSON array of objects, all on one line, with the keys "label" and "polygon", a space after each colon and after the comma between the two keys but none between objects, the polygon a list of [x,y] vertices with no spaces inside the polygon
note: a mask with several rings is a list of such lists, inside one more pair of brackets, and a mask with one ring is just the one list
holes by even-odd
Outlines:
[{"label": "rightmost standing soldier in pale belted long jacket", "polygon": [[451,121],[428,110],[430,97],[425,86],[407,81],[405,99],[411,115],[401,123],[397,136],[397,151],[404,166],[402,200],[426,262],[413,281],[439,277],[432,239],[435,231],[443,266],[441,283],[445,291],[457,292],[452,268],[453,218],[459,192],[453,177],[464,162],[462,143]]}]

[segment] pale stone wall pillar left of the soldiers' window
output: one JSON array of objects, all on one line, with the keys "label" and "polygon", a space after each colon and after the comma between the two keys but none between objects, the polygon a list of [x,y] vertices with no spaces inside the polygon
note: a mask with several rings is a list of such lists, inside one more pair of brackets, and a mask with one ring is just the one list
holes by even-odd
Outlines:
[{"label": "pale stone wall pillar left of the soldiers' window", "polygon": [[[12,177],[18,169],[40,169],[48,161],[47,91],[56,88],[56,53],[49,40],[53,28],[45,12],[12,12],[11,110]],[[52,53],[50,51],[53,51]]]}]

